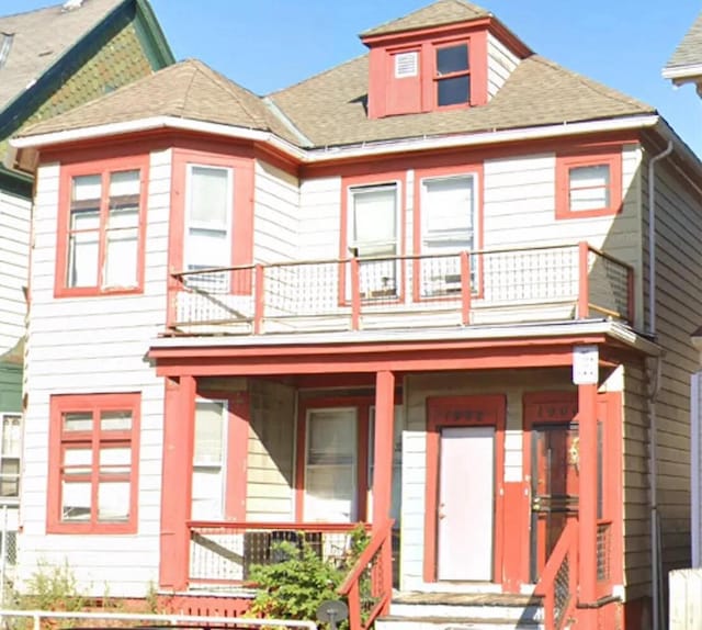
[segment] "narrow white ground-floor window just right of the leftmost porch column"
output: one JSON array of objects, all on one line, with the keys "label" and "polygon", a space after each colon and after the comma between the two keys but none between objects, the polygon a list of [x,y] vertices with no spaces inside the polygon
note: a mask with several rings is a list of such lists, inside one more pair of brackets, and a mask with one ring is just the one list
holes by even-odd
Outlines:
[{"label": "narrow white ground-floor window just right of the leftmost porch column", "polygon": [[222,520],[225,500],[226,401],[196,401],[193,447],[193,520]]}]

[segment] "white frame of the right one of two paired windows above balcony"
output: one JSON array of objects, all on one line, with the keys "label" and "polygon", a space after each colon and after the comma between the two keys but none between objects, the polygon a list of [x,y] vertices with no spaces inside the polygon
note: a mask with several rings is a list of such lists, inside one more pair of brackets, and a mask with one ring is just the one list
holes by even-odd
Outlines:
[{"label": "white frame of the right one of two paired windows above balcony", "polygon": [[[422,177],[420,180],[420,203],[421,203],[421,221],[420,221],[420,235],[419,235],[419,254],[427,255],[426,241],[428,224],[429,224],[429,189],[428,183],[434,181],[449,181],[449,180],[457,180],[457,179],[471,179],[472,180],[472,195],[473,195],[473,207],[471,209],[472,217],[471,217],[471,247],[468,251],[475,251],[478,247],[478,235],[480,234],[480,199],[479,199],[479,180],[478,173],[475,171],[466,171],[451,175],[435,175],[429,177]],[[458,254],[462,251],[461,249],[456,249],[455,252]],[[445,254],[450,254],[446,251]],[[423,261],[422,261],[423,262]],[[428,265],[429,262],[424,262]],[[434,291],[443,293],[443,292],[460,292],[461,290],[461,279],[460,279],[460,260],[456,257],[455,261],[453,259],[445,260],[446,266],[450,268],[450,272],[443,274],[443,278],[437,279],[437,288],[432,289],[431,285],[423,286],[421,290],[422,296],[431,296]],[[480,263],[478,257],[471,257],[471,279],[473,291],[475,291],[475,279],[478,277],[477,266]],[[420,273],[420,278],[423,278],[423,274]],[[432,278],[432,282],[433,282]],[[423,283],[423,282],[422,282]]]}]

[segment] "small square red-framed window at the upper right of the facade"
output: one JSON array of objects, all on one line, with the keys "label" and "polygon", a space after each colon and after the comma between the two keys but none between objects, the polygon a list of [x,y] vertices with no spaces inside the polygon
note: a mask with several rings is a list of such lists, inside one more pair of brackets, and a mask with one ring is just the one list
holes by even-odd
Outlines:
[{"label": "small square red-framed window at the upper right of the facade", "polygon": [[556,217],[616,214],[622,204],[621,150],[556,158]]}]

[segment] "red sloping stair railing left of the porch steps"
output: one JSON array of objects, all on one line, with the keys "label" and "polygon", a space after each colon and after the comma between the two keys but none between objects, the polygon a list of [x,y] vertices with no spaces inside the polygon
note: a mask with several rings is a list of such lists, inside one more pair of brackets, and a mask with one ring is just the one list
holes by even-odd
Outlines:
[{"label": "red sloping stair railing left of the porch steps", "polygon": [[367,630],[387,611],[393,596],[393,520],[373,531],[338,593],[349,601],[350,630]]}]

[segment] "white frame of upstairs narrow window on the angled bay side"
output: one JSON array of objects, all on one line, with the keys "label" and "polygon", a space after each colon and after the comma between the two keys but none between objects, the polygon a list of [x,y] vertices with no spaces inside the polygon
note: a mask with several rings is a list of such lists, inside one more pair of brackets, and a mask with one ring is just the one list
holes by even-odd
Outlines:
[{"label": "white frame of upstairs narrow window on the angled bay side", "polygon": [[[183,238],[183,269],[185,271],[191,271],[191,266],[193,266],[193,252],[191,245],[191,229],[219,229],[219,226],[212,227],[212,223],[196,222],[191,218],[192,215],[192,187],[193,187],[193,172],[195,169],[208,169],[216,171],[224,171],[227,173],[227,190],[226,190],[226,218],[225,218],[225,228],[226,228],[226,247],[229,252],[227,256],[227,261],[224,265],[214,265],[213,268],[216,267],[230,267],[233,260],[233,229],[234,229],[234,169],[231,167],[211,165],[211,164],[200,164],[200,162],[190,162],[186,167],[185,172],[185,205],[184,205],[184,238]],[[202,267],[197,265],[197,267]],[[202,288],[203,290],[207,290],[210,292],[227,292],[229,289],[229,273],[222,274],[207,274],[204,275],[193,275],[188,279],[188,284],[195,288]]]}]

